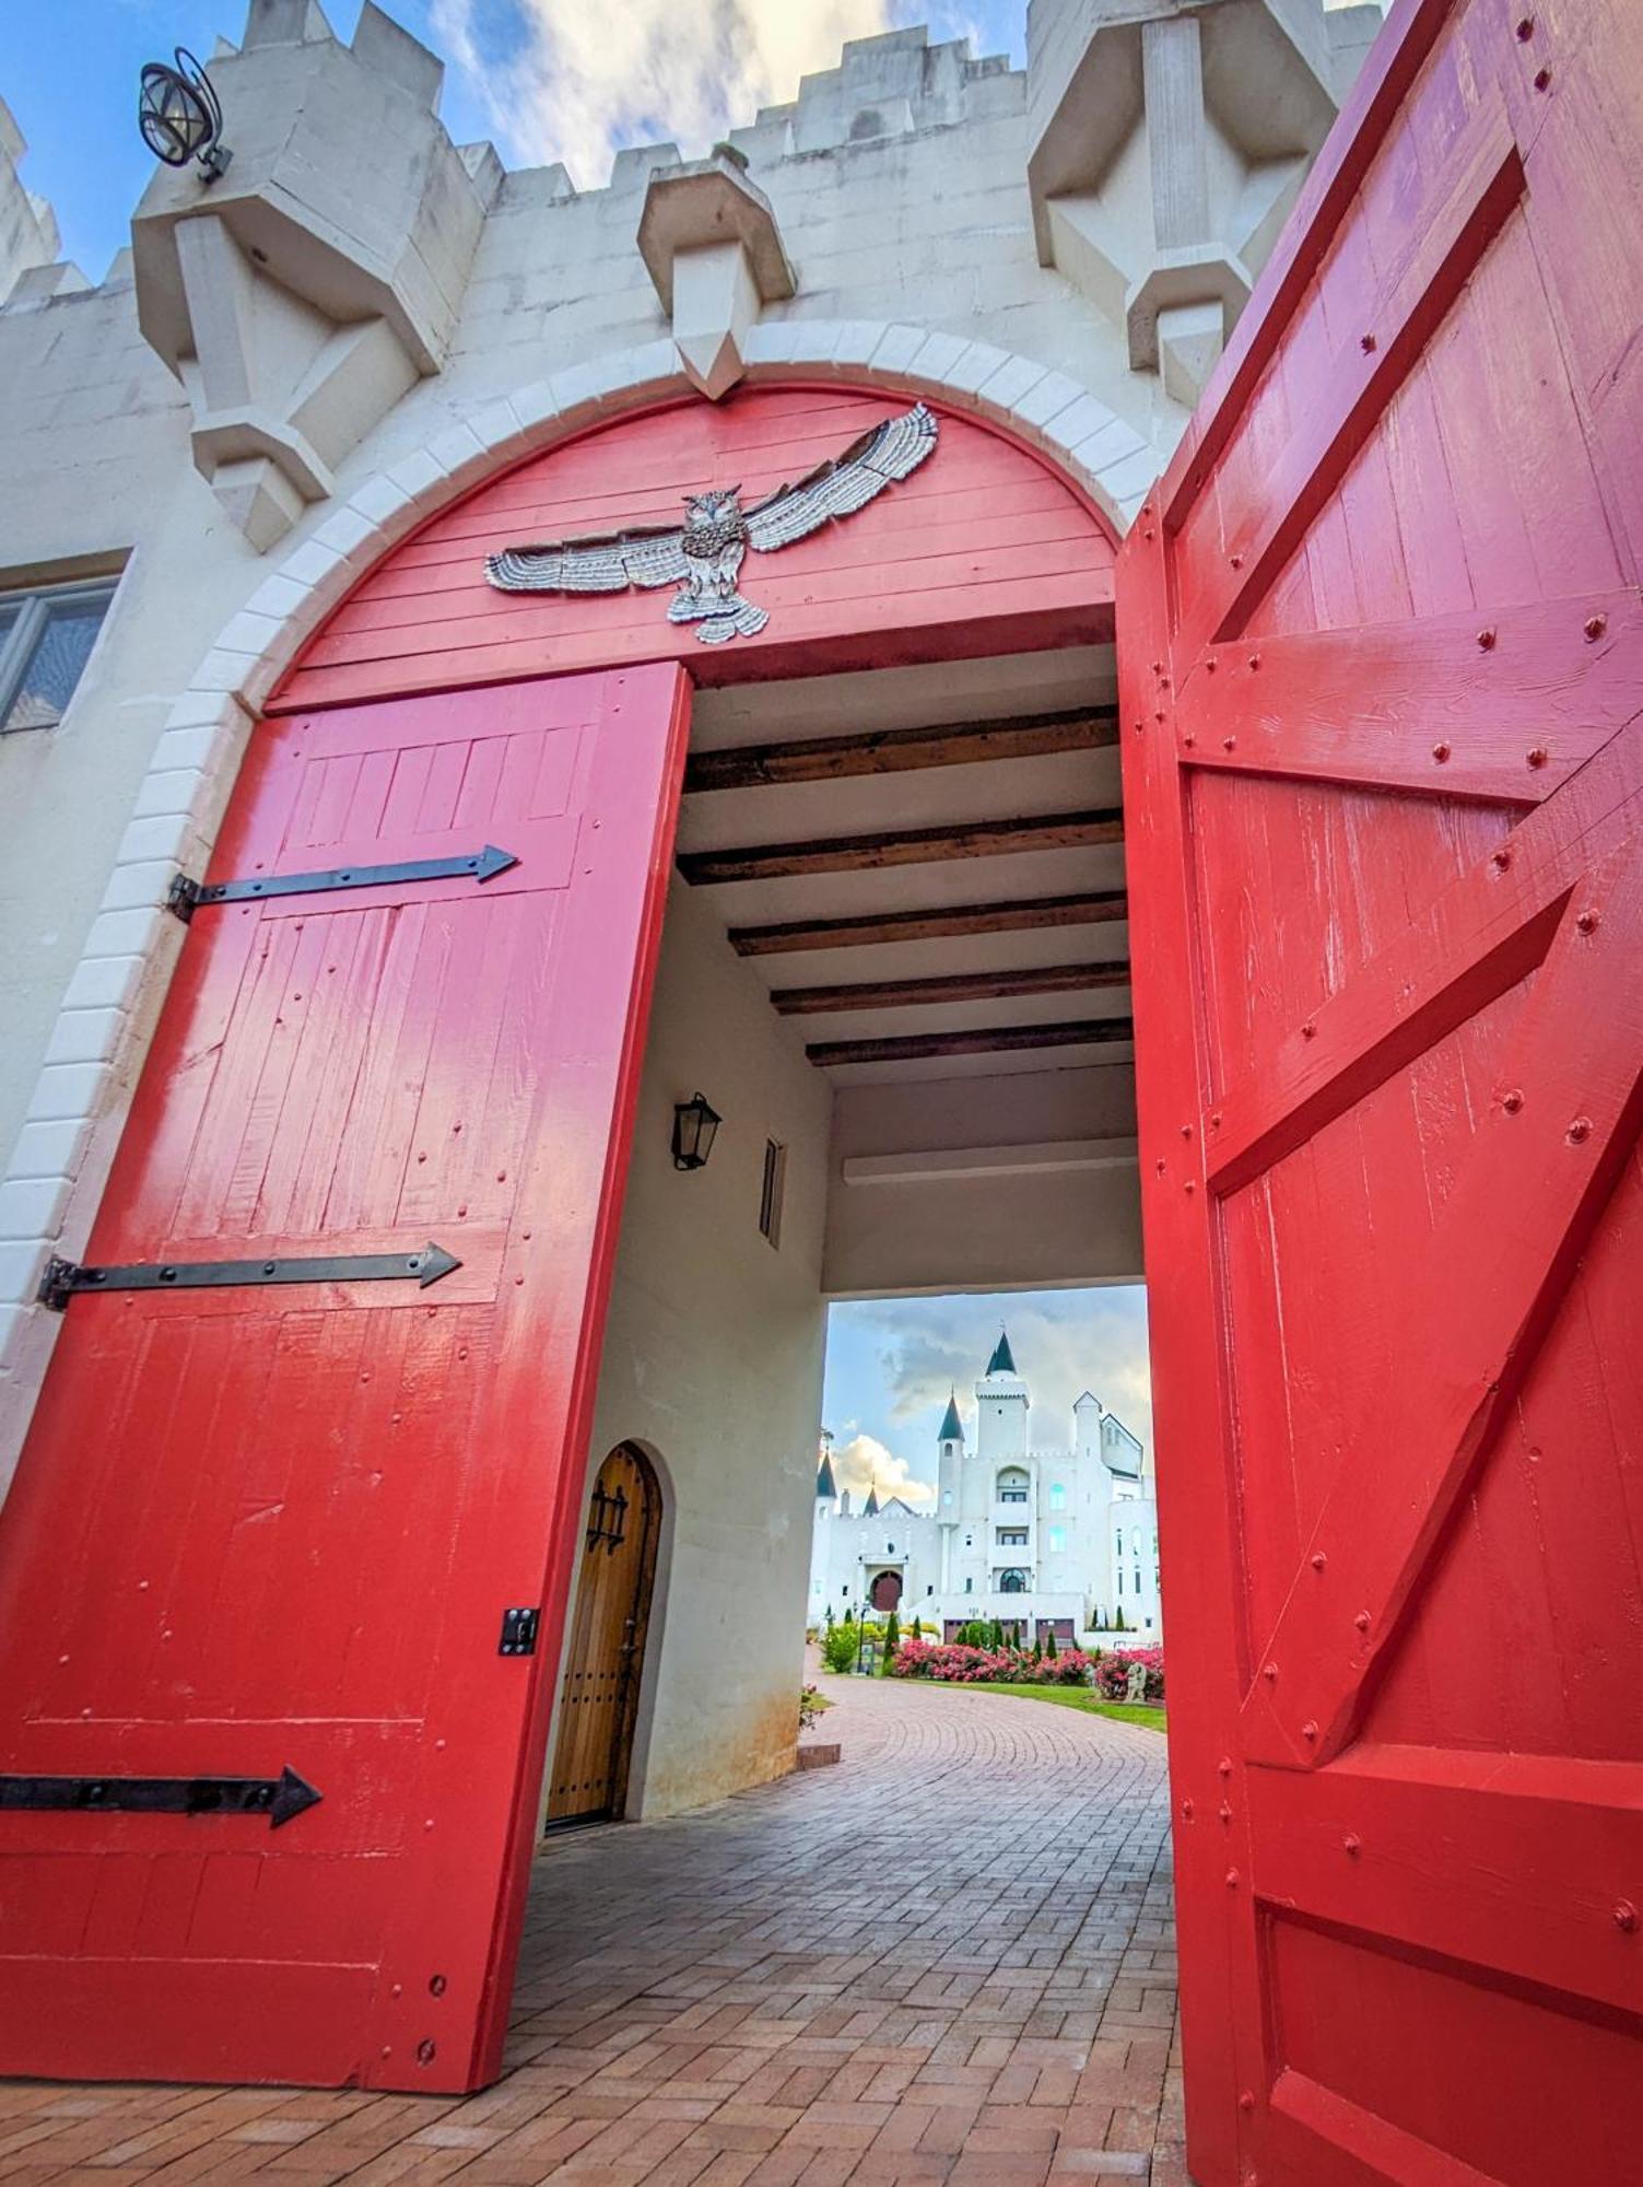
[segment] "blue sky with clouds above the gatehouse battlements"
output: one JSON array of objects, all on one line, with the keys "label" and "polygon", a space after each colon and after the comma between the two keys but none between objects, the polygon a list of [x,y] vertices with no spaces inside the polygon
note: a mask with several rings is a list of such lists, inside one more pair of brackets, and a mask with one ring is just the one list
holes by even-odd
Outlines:
[{"label": "blue sky with clouds above the gatehouse battlements", "polygon": [[[564,160],[579,188],[623,144],[701,155],[760,105],[832,68],[846,37],[926,22],[977,55],[1025,59],[1025,0],[385,0],[448,61],[457,142],[492,138],[509,166]],[[1339,0],[1328,0],[1339,4]],[[358,0],[326,15],[352,37]],[[0,96],[28,138],[24,179],[57,208],[66,256],[92,280],[129,241],[151,157],[135,129],[138,70],[175,44],[210,57],[245,0],[0,0]],[[232,120],[232,116],[229,116]],[[229,129],[232,140],[232,129]]]}]

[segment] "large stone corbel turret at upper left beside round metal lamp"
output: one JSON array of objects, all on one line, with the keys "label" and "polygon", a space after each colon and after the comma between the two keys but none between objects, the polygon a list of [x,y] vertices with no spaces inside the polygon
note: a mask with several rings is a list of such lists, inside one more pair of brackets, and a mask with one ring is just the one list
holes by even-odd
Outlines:
[{"label": "large stone corbel turret at upper left beside round metal lamp", "polygon": [[439,61],[371,0],[352,46],[317,0],[251,0],[212,81],[234,162],[149,182],[138,324],[188,389],[194,466],[267,553],[439,372],[500,166],[450,142]]}]

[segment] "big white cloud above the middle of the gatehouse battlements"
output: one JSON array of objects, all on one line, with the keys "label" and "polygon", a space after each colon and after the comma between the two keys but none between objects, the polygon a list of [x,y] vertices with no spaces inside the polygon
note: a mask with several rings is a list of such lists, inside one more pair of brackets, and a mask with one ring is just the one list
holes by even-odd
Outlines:
[{"label": "big white cloud above the middle of the gatehouse battlements", "polygon": [[850,37],[889,28],[889,0],[516,0],[507,42],[485,0],[435,0],[437,42],[472,79],[511,162],[564,160],[588,190],[618,144],[673,140],[701,157]]}]

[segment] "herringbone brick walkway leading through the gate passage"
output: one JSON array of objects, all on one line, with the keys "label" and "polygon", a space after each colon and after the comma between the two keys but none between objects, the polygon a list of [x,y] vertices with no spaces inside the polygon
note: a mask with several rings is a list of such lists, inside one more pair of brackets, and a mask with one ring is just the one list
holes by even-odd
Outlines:
[{"label": "herringbone brick walkway leading through the gate passage", "polygon": [[1184,2187],[1162,1739],[826,1686],[839,1769],[542,1855],[496,2089],[0,2084],[0,2176]]}]

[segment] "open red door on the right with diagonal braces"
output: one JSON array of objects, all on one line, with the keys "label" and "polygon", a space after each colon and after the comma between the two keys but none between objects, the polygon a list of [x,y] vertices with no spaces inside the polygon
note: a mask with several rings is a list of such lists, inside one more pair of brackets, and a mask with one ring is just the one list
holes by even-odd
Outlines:
[{"label": "open red door on the right with diagonal braces", "polygon": [[1400,0],[1121,562],[1204,2187],[1643,2176],[1641,149]]}]

